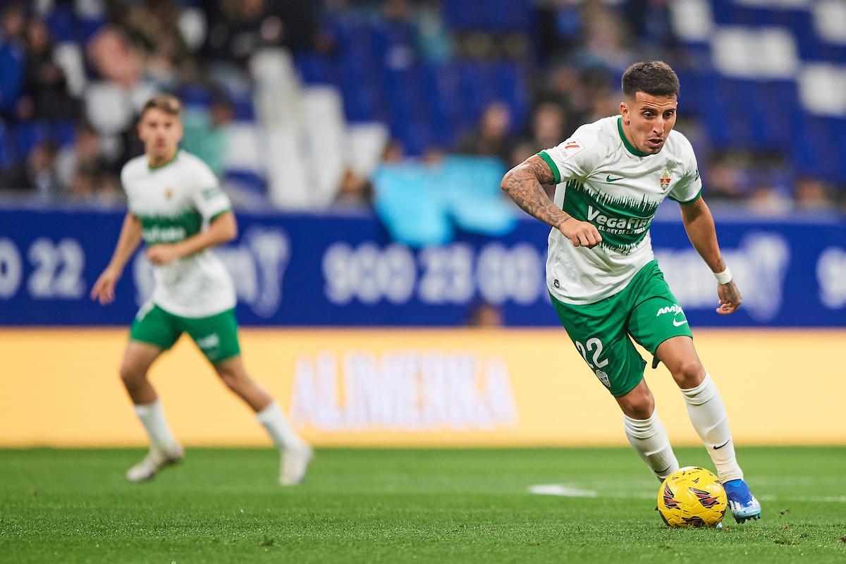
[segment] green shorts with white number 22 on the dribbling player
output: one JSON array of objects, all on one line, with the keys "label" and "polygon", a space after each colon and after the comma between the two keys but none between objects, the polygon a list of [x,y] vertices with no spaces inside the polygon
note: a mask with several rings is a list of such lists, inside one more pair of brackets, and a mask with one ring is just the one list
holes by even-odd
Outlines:
[{"label": "green shorts with white number 22 on the dribbling player", "polygon": [[554,297],[552,304],[576,350],[614,397],[631,392],[643,380],[646,363],[632,338],[653,356],[670,337],[693,338],[655,260],[643,266],[622,292],[596,304],[564,304]]}]

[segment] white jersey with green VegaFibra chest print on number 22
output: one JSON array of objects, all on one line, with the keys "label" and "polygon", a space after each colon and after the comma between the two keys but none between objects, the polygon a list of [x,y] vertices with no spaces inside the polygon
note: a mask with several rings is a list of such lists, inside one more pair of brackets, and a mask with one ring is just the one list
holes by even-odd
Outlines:
[{"label": "white jersey with green VegaFibra chest print on number 22", "polygon": [[619,116],[585,124],[539,155],[558,184],[555,205],[602,235],[586,249],[556,228],[549,234],[547,286],[567,304],[593,304],[626,287],[653,259],[649,226],[658,205],[667,196],[682,203],[700,196],[696,156],[683,134],[671,131],[661,152],[647,155],[626,139]]}]

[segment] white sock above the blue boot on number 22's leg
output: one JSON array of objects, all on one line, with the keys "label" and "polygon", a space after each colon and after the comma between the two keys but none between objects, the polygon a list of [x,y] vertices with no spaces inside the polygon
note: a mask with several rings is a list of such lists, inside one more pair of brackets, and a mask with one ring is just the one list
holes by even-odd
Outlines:
[{"label": "white sock above the blue boot on number 22's leg", "polygon": [[717,385],[706,373],[705,380],[699,386],[682,390],[687,402],[690,423],[699,434],[702,442],[717,467],[717,477],[721,482],[730,479],[743,479],[743,471],[734,458],[732,432],[728,429],[726,406],[722,403]]}]

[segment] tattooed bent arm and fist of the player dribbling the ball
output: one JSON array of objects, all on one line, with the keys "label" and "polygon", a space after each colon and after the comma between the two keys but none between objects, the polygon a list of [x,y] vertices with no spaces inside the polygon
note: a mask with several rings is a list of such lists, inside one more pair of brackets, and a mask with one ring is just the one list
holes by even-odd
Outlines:
[{"label": "tattooed bent arm and fist of the player dribbling the ball", "polygon": [[552,169],[540,156],[530,156],[506,172],[501,188],[530,216],[556,227],[574,247],[594,247],[602,241],[596,227],[580,222],[552,203],[541,184],[552,184]]}]

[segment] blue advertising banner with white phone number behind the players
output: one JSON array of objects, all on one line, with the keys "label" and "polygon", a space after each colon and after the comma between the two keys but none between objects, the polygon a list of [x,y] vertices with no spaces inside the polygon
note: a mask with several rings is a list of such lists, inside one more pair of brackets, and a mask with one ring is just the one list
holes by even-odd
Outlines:
[{"label": "blue advertising banner with white phone number behind the players", "polygon": [[[247,326],[462,326],[481,304],[508,326],[557,325],[544,281],[548,229],[527,218],[503,238],[461,235],[409,249],[372,216],[240,213],[237,241],[217,249]],[[0,210],[0,325],[128,325],[152,290],[142,253],[114,304],[88,293],[106,266],[119,211]],[[717,315],[714,278],[678,221],[652,244],[693,326],[846,326],[846,224],[717,222],[744,304]]]}]

